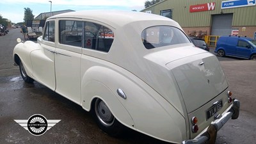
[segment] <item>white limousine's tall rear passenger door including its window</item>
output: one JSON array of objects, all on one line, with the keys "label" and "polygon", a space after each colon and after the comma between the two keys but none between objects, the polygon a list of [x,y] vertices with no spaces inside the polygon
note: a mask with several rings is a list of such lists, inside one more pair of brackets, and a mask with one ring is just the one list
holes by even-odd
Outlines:
[{"label": "white limousine's tall rear passenger door including its window", "polygon": [[56,92],[80,104],[83,22],[65,19],[58,22],[59,43],[55,50]]}]

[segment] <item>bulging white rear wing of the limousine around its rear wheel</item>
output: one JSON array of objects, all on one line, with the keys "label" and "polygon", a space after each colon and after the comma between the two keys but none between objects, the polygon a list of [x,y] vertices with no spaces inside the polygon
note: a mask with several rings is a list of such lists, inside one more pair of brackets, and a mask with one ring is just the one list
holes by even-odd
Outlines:
[{"label": "bulging white rear wing of the limousine around its rear wheel", "polygon": [[[159,93],[132,75],[100,66],[89,68],[81,79],[81,105],[90,111],[94,100],[101,99],[115,118],[131,129],[163,141],[185,140],[185,118]],[[124,90],[127,99],[117,94],[118,88]],[[152,126],[155,122],[160,124]]]}]

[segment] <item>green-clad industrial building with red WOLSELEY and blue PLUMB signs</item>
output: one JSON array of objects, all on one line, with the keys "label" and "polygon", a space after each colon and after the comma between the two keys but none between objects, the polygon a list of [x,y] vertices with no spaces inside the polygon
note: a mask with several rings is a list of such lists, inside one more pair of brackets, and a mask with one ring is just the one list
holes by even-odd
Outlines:
[{"label": "green-clad industrial building with red WOLSELEY and blue PLUMB signs", "polygon": [[141,12],[173,19],[190,36],[217,36],[215,41],[223,35],[256,39],[255,3],[255,0],[163,0]]}]

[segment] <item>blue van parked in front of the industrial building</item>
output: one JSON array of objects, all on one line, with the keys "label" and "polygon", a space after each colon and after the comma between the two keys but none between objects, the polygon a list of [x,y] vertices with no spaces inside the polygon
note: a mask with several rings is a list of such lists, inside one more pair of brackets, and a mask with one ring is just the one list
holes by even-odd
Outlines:
[{"label": "blue van parked in front of the industrial building", "polygon": [[220,36],[216,49],[217,56],[234,56],[256,60],[256,40],[240,36]]}]

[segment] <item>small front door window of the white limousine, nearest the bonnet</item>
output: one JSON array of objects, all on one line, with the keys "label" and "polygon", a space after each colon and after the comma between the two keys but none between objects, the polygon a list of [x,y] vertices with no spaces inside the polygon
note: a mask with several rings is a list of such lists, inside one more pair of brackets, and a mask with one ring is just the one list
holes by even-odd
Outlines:
[{"label": "small front door window of the white limousine, nearest the bonnet", "polygon": [[55,42],[54,34],[55,34],[55,22],[48,21],[45,23],[45,30],[43,40],[47,40],[50,42]]}]

